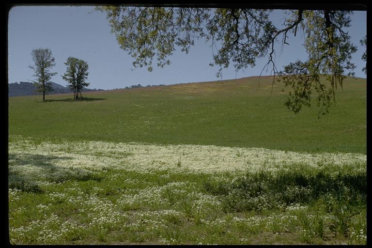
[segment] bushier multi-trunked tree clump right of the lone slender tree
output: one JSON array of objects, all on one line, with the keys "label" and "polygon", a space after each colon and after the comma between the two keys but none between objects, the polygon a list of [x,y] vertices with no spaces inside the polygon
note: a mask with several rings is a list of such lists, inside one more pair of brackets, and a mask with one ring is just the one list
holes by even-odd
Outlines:
[{"label": "bushier multi-trunked tree clump right of the lone slender tree", "polygon": [[88,63],[79,60],[78,58],[68,57],[67,61],[64,62],[67,66],[66,72],[62,75],[63,80],[68,84],[68,87],[74,92],[74,99],[79,99],[79,93],[84,87],[89,86],[89,83],[85,80],[88,78]]}]

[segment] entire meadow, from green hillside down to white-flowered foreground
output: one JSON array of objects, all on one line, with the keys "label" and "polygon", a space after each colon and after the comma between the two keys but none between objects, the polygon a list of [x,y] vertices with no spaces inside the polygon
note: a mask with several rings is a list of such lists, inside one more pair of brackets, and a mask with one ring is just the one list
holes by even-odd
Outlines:
[{"label": "entire meadow, from green hillside down to white-flowered foreground", "polygon": [[9,98],[11,243],[366,244],[366,80],[320,119],[257,87]]}]

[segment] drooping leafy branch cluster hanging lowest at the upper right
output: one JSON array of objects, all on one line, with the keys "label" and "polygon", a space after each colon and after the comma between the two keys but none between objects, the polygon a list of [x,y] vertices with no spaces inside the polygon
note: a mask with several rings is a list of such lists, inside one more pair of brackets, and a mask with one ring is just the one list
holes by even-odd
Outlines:
[{"label": "drooping leafy branch cluster hanging lowest at the upper right", "polygon": [[[306,33],[304,47],[308,53],[306,62],[290,63],[280,72],[284,83],[292,87],[286,102],[288,109],[298,113],[303,106],[310,107],[312,93],[316,93],[316,105],[320,115],[328,113],[331,97],[336,101],[337,85],[341,86],[349,71],[354,76],[355,65],[351,55],[356,47],[351,44],[350,36],[342,31],[350,26],[348,11],[304,11],[302,29]],[[322,84],[320,76],[326,78],[330,87]]]}]

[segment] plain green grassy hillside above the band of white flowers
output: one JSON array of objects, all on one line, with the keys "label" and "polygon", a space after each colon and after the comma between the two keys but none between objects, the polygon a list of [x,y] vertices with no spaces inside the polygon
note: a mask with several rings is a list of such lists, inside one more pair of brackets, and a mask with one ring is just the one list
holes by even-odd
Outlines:
[{"label": "plain green grassy hillside above the band of white flowers", "polygon": [[[214,144],[366,154],[366,80],[346,78],[330,113],[295,115],[270,78],[9,98],[9,134],[64,140]],[[282,91],[284,89],[284,92]]]}]

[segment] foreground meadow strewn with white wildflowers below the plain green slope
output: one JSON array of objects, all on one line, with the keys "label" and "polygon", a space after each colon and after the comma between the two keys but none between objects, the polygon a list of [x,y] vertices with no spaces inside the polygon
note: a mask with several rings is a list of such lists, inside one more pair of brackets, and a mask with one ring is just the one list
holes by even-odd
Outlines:
[{"label": "foreground meadow strewn with white wildflowers below the plain green slope", "polygon": [[366,244],[366,159],[9,136],[13,244]]}]

